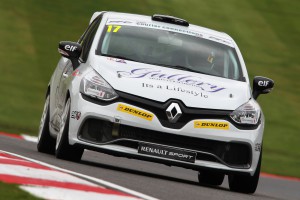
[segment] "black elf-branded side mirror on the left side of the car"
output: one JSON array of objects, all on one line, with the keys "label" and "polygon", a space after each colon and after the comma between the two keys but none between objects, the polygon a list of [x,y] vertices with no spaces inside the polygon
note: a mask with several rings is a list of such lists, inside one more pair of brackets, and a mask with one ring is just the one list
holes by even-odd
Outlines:
[{"label": "black elf-branded side mirror on the left side of the car", "polygon": [[71,60],[73,69],[79,66],[78,59],[81,55],[81,45],[76,42],[62,41],[58,44],[58,52]]}]

